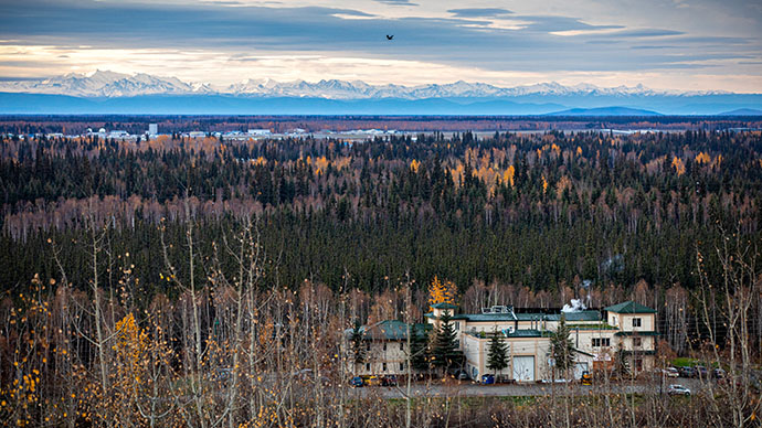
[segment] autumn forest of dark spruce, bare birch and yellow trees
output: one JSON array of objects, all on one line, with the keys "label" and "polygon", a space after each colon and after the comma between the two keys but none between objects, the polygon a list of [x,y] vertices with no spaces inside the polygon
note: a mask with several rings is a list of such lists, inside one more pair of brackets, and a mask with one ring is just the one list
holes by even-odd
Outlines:
[{"label": "autumn forest of dark spruce, bare birch and yellow trees", "polygon": [[[761,190],[759,131],[4,135],[0,418],[364,426],[378,411],[368,426],[404,425],[404,405],[321,379],[345,383],[340,332],[420,322],[435,278],[463,311],[632,299],[658,310],[665,353],[727,360],[742,343],[759,364]],[[273,377],[298,370],[309,382]],[[759,393],[745,395],[690,413],[612,395],[605,418],[590,410],[604,398],[565,397],[565,419],[457,402],[457,422],[453,403],[406,403],[416,426],[753,426]]]}]

